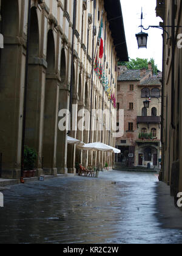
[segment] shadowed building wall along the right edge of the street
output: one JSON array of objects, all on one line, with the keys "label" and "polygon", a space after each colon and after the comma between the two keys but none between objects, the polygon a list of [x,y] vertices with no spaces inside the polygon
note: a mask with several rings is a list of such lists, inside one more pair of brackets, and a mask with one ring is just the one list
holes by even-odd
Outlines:
[{"label": "shadowed building wall along the right edge of the street", "polygon": [[[159,9],[160,2],[160,9]],[[163,34],[163,104],[162,104],[162,147],[163,168],[160,180],[171,187],[177,202],[177,193],[182,191],[182,137],[181,137],[181,1],[157,1],[157,15],[166,27]]]}]

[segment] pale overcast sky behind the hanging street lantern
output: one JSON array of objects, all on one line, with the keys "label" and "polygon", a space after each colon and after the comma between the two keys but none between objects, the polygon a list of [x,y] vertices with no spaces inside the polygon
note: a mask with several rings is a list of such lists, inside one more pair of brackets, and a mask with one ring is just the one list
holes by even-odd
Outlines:
[{"label": "pale overcast sky behind the hanging street lantern", "polygon": [[127,49],[130,59],[151,59],[155,60],[158,69],[162,71],[163,58],[163,30],[157,28],[150,28],[143,30],[149,34],[147,49],[138,49],[135,34],[141,32],[141,7],[143,7],[143,26],[159,26],[162,21],[160,17],[156,16],[155,8],[157,1],[151,0],[121,0],[121,7],[123,12],[124,29],[126,34]]}]

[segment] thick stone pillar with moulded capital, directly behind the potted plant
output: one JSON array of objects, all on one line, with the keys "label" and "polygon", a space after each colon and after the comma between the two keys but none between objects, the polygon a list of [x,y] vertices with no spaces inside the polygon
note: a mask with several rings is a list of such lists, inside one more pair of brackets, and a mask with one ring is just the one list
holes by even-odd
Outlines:
[{"label": "thick stone pillar with moulded capital, directly behind the potted plant", "polygon": [[42,137],[45,99],[45,69],[44,59],[29,59],[29,80],[27,90],[27,115],[25,126],[25,145],[38,152],[36,163],[37,176],[42,174]]}]

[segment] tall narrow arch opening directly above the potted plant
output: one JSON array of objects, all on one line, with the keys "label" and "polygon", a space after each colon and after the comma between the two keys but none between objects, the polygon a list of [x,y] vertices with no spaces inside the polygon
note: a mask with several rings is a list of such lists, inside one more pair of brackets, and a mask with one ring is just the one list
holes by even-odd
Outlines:
[{"label": "tall narrow arch opening directly above the potted plant", "polygon": [[39,24],[36,7],[30,13],[29,68],[25,144],[39,151],[39,122],[41,110],[41,66],[39,65]]}]

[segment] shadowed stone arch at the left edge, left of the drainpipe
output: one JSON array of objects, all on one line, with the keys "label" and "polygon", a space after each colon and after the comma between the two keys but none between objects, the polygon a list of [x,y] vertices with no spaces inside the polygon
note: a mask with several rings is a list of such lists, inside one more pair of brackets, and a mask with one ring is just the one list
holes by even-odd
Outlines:
[{"label": "shadowed stone arch at the left edge, left of the drainpipe", "polygon": [[25,61],[25,57],[21,54],[23,47],[16,40],[19,35],[19,2],[0,2],[0,34],[4,37],[4,48],[0,49],[0,107],[3,110],[0,112],[0,145],[3,155],[2,176],[3,169],[10,174],[6,177],[13,177],[21,163],[20,106],[23,99],[20,93],[24,87],[22,59]]}]

